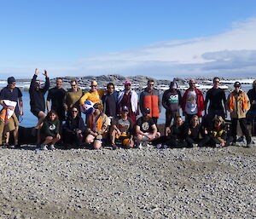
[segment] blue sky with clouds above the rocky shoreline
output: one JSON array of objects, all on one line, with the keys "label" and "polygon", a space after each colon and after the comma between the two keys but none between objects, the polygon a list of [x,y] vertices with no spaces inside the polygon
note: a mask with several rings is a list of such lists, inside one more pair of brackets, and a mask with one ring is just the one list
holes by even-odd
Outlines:
[{"label": "blue sky with clouds above the rocky shoreline", "polygon": [[35,67],[52,77],[256,75],[253,0],[1,1],[0,7],[2,79],[30,78]]}]

